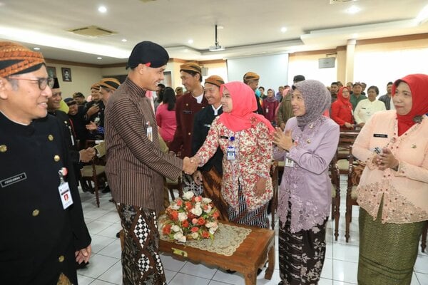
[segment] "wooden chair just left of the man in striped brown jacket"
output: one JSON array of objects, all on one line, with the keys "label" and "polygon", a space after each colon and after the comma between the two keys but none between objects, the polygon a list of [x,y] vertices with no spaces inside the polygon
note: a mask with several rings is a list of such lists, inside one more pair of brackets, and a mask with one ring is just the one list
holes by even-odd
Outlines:
[{"label": "wooden chair just left of the man in striped brown jacket", "polygon": [[[96,197],[96,205],[100,207],[100,199],[99,199],[99,186],[105,185],[107,181],[106,171],[104,165],[98,165],[98,157],[94,157],[91,160],[91,165],[84,165],[81,169],[81,184],[87,184],[91,192],[95,192]],[[93,182],[93,187],[92,187]]]}]

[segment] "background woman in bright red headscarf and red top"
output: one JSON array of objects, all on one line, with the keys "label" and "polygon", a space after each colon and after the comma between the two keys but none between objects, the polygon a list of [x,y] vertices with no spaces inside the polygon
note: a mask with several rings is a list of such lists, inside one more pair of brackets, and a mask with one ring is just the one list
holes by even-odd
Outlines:
[{"label": "background woman in bright red headscarf and red top", "polygon": [[332,103],[331,118],[340,128],[353,129],[354,118],[352,118],[352,104],[350,103],[350,90],[342,87],[337,92],[337,100]]}]

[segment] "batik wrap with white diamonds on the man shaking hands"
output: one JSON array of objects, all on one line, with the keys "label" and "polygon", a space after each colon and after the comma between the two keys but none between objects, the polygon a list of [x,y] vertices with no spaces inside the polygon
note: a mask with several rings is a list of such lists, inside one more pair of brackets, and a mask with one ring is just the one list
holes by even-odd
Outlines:
[{"label": "batik wrap with white diamonds on the man shaking hands", "polygon": [[123,227],[122,274],[124,285],[166,285],[159,251],[156,212],[116,203]]}]

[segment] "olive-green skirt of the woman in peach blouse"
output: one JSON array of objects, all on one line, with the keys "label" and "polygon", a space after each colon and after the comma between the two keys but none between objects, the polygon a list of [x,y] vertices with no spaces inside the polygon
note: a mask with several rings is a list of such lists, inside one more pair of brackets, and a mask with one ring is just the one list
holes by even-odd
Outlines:
[{"label": "olive-green skirt of the woman in peach blouse", "polygon": [[382,224],[381,219],[382,205],[375,220],[360,207],[358,284],[410,284],[425,222]]}]

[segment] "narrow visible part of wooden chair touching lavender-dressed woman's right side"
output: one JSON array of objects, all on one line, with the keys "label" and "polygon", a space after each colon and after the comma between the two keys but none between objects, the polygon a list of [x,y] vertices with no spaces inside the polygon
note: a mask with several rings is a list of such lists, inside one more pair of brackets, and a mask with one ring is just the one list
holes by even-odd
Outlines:
[{"label": "narrow visible part of wooden chair touching lavender-dressed woman's right side", "polygon": [[332,182],[332,220],[335,221],[335,240],[339,237],[340,219],[340,172],[337,166],[337,152],[329,166],[330,180]]}]

